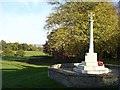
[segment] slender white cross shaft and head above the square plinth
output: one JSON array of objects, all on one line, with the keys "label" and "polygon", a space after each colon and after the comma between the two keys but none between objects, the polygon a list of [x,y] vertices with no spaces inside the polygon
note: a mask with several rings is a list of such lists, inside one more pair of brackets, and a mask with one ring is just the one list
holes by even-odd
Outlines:
[{"label": "slender white cross shaft and head above the square plinth", "polygon": [[93,16],[95,16],[92,12],[88,14],[90,17],[90,43],[89,43],[89,53],[94,53],[94,46],[93,46]]}]

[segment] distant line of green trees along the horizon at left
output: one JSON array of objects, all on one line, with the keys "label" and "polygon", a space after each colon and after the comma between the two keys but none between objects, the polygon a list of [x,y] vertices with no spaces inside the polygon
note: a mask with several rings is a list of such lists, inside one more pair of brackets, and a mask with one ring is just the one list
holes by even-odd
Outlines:
[{"label": "distant line of green trees along the horizon at left", "polygon": [[[24,51],[42,51],[42,47],[27,43],[7,43],[4,40],[0,41],[3,56],[24,56]],[[16,53],[14,51],[17,51]]]}]

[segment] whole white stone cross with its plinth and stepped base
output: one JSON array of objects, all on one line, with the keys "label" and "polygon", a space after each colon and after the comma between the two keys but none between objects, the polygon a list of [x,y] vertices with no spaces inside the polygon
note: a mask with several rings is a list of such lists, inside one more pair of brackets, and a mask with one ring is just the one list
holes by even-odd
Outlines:
[{"label": "whole white stone cross with its plinth and stepped base", "polygon": [[80,73],[86,74],[104,74],[110,72],[108,68],[98,65],[97,53],[94,53],[94,44],[93,44],[93,16],[94,14],[89,14],[90,16],[90,43],[89,43],[89,52],[85,54],[85,61],[82,61],[78,66],[73,70]]}]

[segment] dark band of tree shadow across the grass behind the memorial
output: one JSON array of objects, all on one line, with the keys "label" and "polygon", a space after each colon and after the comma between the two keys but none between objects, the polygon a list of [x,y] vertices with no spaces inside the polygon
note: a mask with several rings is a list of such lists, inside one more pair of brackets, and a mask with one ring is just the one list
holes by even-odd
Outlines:
[{"label": "dark band of tree shadow across the grass behind the memorial", "polygon": [[[58,63],[80,63],[81,61],[84,60],[79,60],[76,59],[74,57],[69,57],[66,60],[60,60],[57,59],[55,60],[52,56],[31,56],[31,57],[17,57],[17,56],[4,56],[2,57],[3,60],[6,61],[17,61],[17,62],[26,62],[29,64],[34,64],[34,65],[53,65],[53,64],[58,64]],[[115,65],[119,65],[120,62],[119,60],[107,60],[104,59],[103,60],[104,64],[115,64]]]}]

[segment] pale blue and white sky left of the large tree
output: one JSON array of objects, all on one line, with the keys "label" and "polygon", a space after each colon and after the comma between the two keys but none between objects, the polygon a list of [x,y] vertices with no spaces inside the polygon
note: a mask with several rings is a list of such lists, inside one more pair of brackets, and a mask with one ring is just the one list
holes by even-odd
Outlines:
[{"label": "pale blue and white sky left of the large tree", "polygon": [[0,40],[45,44],[47,30],[43,27],[54,7],[47,1],[0,0]]}]

